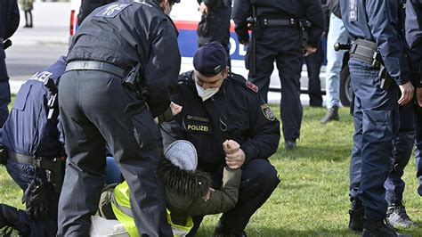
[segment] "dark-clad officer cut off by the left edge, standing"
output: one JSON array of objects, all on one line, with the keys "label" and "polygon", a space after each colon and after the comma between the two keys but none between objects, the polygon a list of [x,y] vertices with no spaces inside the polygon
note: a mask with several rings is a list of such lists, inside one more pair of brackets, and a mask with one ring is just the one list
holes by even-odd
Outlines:
[{"label": "dark-clad officer cut off by the left edge, standing", "polygon": [[9,115],[7,106],[11,102],[11,89],[6,62],[4,61],[6,58],[4,49],[8,46],[6,42],[11,42],[6,40],[12,37],[18,29],[19,19],[19,8],[16,0],[0,1],[0,127],[3,127],[4,121]]}]

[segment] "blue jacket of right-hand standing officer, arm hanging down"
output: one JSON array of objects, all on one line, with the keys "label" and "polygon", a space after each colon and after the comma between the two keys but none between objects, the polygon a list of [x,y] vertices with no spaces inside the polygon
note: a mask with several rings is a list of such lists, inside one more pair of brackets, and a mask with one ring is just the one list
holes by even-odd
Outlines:
[{"label": "blue jacket of right-hand standing officer, arm hanging down", "polygon": [[361,38],[376,42],[390,76],[398,85],[408,82],[400,0],[340,0],[340,7],[352,41]]}]

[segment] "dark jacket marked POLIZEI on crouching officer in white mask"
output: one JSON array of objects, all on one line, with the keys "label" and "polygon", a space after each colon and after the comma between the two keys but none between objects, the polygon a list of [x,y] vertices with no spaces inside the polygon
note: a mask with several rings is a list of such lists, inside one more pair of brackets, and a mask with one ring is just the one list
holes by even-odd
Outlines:
[{"label": "dark jacket marked POLIZEI on crouching officer in white mask", "polygon": [[165,146],[174,140],[190,141],[198,151],[198,168],[207,172],[224,166],[226,139],[240,144],[245,164],[252,159],[268,159],[277,151],[280,123],[256,86],[230,73],[218,93],[202,102],[194,77],[193,71],[179,77],[172,101],[182,105],[183,110],[174,121],[162,124]]}]

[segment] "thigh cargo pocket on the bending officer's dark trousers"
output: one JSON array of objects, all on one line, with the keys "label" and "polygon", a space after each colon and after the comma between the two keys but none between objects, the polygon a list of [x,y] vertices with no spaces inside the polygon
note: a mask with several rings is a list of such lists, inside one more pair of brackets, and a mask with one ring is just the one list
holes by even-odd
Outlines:
[{"label": "thigh cargo pocket on the bending officer's dark trousers", "polygon": [[134,138],[141,148],[157,143],[158,127],[145,102],[134,102],[127,105],[125,113],[132,121]]}]

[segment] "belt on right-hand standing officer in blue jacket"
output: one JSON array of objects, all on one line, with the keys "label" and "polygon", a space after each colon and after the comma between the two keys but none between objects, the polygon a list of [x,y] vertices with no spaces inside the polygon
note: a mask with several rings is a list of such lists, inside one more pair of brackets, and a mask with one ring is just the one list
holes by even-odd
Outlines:
[{"label": "belt on right-hand standing officer in blue jacket", "polygon": [[356,39],[350,49],[350,57],[367,62],[377,68],[382,64],[382,58],[378,52],[377,44],[365,39]]}]

